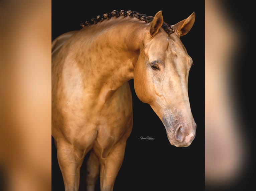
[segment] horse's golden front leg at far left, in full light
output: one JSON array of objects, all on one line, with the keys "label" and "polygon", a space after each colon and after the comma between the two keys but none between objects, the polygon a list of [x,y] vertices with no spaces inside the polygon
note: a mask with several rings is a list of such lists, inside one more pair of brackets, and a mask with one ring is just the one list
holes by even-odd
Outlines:
[{"label": "horse's golden front leg at far left, in full light", "polygon": [[75,150],[73,145],[66,141],[57,141],[57,158],[65,191],[78,191],[84,154],[84,151]]}]

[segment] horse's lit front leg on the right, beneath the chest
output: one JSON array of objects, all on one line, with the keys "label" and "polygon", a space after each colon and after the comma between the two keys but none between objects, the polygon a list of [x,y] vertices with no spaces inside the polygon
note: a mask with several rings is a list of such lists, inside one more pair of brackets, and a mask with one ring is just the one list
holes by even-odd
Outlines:
[{"label": "horse's lit front leg on the right, beneath the chest", "polygon": [[114,145],[108,156],[100,159],[100,187],[101,191],[113,191],[118,171],[124,159],[126,140]]}]

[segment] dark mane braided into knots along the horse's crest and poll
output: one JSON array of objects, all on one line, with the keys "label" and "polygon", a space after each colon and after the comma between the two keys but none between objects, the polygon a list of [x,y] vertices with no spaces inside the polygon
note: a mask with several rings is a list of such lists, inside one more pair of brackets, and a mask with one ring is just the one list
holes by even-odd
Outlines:
[{"label": "dark mane braided into knots along the horse's crest and poll", "polygon": [[[129,17],[135,17],[141,21],[144,21],[146,23],[149,23],[153,20],[154,17],[152,16],[147,16],[146,14],[140,14],[137,11],[125,11],[125,10],[121,10],[121,11],[117,11],[117,10],[113,10],[111,13],[104,13],[102,16],[98,15],[96,18],[92,18],[91,21],[85,21],[85,23],[81,23],[80,26],[81,27],[85,27],[85,26],[90,26],[93,24],[97,24],[98,22],[102,22],[106,19],[110,19],[111,17],[119,17],[119,16],[129,16]],[[174,29],[167,24],[166,22],[163,22],[162,25],[163,29],[165,30],[166,33],[168,34],[172,34],[174,33]]]}]

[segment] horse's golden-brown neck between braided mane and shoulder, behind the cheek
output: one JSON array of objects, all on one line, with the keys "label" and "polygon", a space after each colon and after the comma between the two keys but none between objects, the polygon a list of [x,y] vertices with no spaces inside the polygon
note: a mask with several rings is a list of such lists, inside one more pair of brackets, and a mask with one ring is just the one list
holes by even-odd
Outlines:
[{"label": "horse's golden-brown neck between braided mane and shoulder, behind the cheek", "polygon": [[133,79],[147,26],[136,18],[111,19],[83,28],[76,35],[79,42],[75,46],[79,50],[74,51],[77,63],[86,74],[86,84],[97,89],[103,99]]}]

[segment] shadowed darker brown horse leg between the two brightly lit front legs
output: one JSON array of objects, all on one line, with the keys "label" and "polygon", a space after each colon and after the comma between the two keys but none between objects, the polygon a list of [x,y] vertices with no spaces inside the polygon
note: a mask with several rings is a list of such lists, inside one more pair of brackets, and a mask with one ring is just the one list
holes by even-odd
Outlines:
[{"label": "shadowed darker brown horse leg between the two brightly lit front legs", "polygon": [[99,178],[100,163],[97,156],[91,151],[90,156],[86,162],[86,185],[87,191],[94,191],[96,182]]}]

